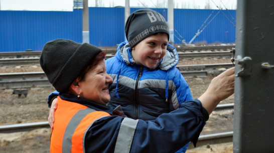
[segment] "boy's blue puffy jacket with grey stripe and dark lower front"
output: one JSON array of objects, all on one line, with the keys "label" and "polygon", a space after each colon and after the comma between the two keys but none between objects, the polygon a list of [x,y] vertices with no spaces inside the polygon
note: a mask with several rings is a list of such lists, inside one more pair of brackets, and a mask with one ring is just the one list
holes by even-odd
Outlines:
[{"label": "boy's blue puffy jacket with grey stripe and dark lower front", "polygon": [[110,105],[121,105],[133,119],[154,121],[163,113],[178,109],[185,101],[193,100],[189,86],[175,67],[177,51],[171,45],[155,69],[134,63],[131,48],[126,42],[118,46],[116,55],[106,60],[106,71],[113,78],[109,87]]}]

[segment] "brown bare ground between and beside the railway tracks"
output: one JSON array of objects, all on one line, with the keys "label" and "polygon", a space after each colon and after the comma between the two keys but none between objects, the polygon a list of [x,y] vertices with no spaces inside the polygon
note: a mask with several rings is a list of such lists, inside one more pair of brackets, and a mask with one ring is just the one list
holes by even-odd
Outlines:
[{"label": "brown bare ground between and beside the railway tracks", "polygon": [[[204,62],[203,62],[204,61]],[[199,63],[197,63],[199,62]],[[180,61],[179,64],[228,63],[229,59],[203,59]],[[42,71],[37,65],[27,67],[1,67],[0,73]],[[186,78],[194,98],[198,98],[209,85],[212,77]],[[47,121],[49,108],[48,95],[54,91],[52,87],[29,89],[28,95],[19,97],[12,89],[0,90],[0,125]],[[233,95],[221,103],[233,102]],[[233,110],[218,112],[210,115],[201,134],[218,133],[233,130]],[[50,152],[50,128],[40,128],[28,132],[0,133],[0,152]],[[187,153],[232,151],[232,142],[209,144],[187,150]]]}]

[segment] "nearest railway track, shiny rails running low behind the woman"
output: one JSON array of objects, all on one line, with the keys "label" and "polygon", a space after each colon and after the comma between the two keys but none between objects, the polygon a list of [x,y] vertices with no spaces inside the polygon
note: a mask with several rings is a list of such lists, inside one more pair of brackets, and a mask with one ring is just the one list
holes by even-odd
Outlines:
[{"label": "nearest railway track, shiny rails running low behind the woman", "polygon": [[[219,104],[216,107],[215,111],[222,111],[224,109],[233,109],[233,107],[234,107],[234,103]],[[0,133],[31,131],[38,128],[50,128],[48,121],[2,125],[0,126]],[[197,142],[197,146],[206,145],[206,144],[232,142],[232,137],[233,137],[233,131],[200,135]],[[193,145],[189,145],[189,148],[193,148]]]}]

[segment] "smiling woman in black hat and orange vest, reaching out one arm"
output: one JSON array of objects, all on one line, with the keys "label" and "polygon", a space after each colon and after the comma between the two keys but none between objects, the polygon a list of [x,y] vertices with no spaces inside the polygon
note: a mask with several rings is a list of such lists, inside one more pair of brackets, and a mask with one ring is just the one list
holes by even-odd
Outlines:
[{"label": "smiling woman in black hat and orange vest, reaching out one arm", "polygon": [[102,51],[89,44],[53,40],[42,51],[40,64],[58,96],[51,152],[175,152],[196,144],[209,114],[233,93],[234,68],[212,80],[198,99],[164,113],[155,122],[123,117],[110,100]]}]

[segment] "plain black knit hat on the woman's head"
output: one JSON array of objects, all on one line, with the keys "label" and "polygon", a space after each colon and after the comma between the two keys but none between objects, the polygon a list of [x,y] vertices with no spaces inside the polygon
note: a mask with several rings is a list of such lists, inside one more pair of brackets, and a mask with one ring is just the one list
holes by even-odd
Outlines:
[{"label": "plain black knit hat on the woman's head", "polygon": [[87,43],[56,39],[45,44],[40,65],[54,88],[65,92],[100,52]]}]

